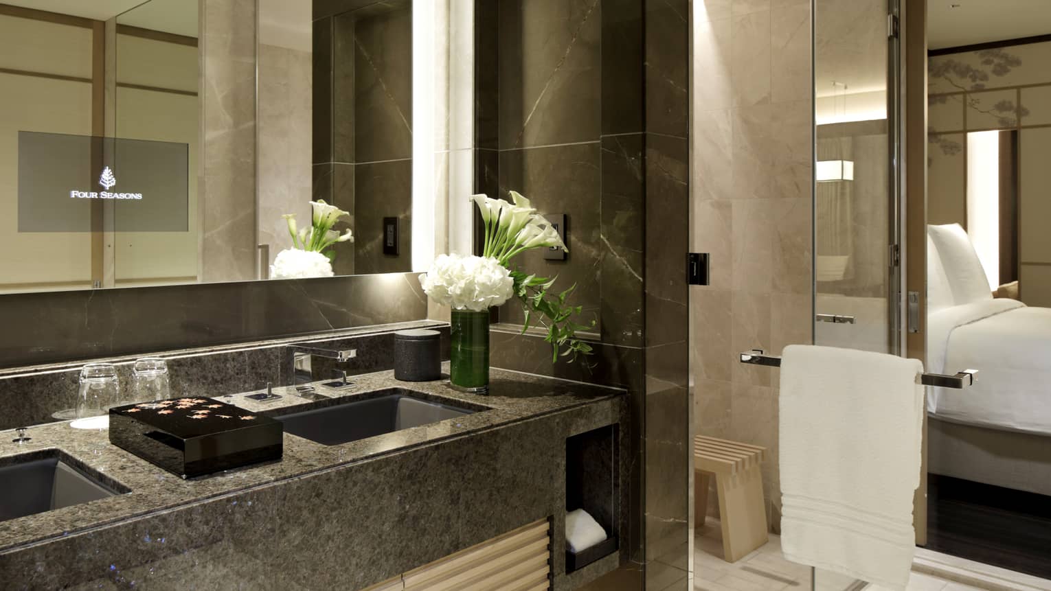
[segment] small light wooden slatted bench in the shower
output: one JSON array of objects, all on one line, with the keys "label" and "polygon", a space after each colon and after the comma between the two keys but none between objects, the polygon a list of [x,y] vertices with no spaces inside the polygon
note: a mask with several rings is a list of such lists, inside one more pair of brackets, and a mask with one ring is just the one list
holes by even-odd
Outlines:
[{"label": "small light wooden slatted bench in the shower", "polygon": [[735,563],[769,540],[763,473],[766,448],[697,436],[694,439],[694,507],[697,527],[704,525],[708,484],[716,479],[722,525],[723,558]]}]

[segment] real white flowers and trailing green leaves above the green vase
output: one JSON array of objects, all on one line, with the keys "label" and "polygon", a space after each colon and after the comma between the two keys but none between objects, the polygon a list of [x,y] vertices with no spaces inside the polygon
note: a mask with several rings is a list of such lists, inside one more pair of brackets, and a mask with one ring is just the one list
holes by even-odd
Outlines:
[{"label": "real white flowers and trailing green leaves above the green vase", "polygon": [[512,259],[528,250],[561,248],[569,252],[569,249],[554,225],[537,213],[528,198],[516,191],[510,194],[513,205],[483,194],[472,195],[486,225],[481,256],[439,255],[430,272],[419,276],[424,292],[453,310],[474,312],[516,297],[526,312],[522,334],[534,320],[547,329],[544,340],[552,345],[552,362],[560,355],[571,361],[579,355],[591,355],[592,346],[576,333],[593,329],[596,322],[579,323],[576,319],[582,307],[568,303],[576,284],[552,292],[557,277],[538,277],[512,263]]}]

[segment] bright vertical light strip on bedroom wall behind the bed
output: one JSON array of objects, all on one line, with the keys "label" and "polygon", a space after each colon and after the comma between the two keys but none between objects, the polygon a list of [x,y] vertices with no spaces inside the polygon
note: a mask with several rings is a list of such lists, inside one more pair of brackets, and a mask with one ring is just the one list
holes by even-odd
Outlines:
[{"label": "bright vertical light strip on bedroom wall behind the bed", "polygon": [[1000,286],[1000,131],[967,134],[967,235],[989,279]]}]

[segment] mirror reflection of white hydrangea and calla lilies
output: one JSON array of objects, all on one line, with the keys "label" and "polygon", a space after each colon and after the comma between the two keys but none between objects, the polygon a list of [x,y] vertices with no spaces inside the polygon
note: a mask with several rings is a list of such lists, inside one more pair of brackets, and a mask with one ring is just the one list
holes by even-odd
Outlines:
[{"label": "mirror reflection of white hydrangea and calla lilies", "polygon": [[294,213],[282,215],[288,224],[292,236],[292,248],[277,253],[270,266],[271,279],[305,279],[309,277],[331,277],[332,259],[335,251],[330,250],[336,242],[353,242],[350,230],[343,234],[332,229],[336,221],[349,211],[344,211],[323,199],[310,202],[312,210],[309,227],[298,228]]}]

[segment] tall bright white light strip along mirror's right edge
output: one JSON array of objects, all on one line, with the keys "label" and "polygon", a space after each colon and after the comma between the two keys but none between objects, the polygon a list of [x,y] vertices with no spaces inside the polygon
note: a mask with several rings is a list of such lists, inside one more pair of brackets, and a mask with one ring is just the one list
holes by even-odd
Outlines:
[{"label": "tall bright white light strip along mirror's right edge", "polygon": [[434,260],[435,27],[446,22],[437,2],[412,4],[412,270],[427,271]]}]

